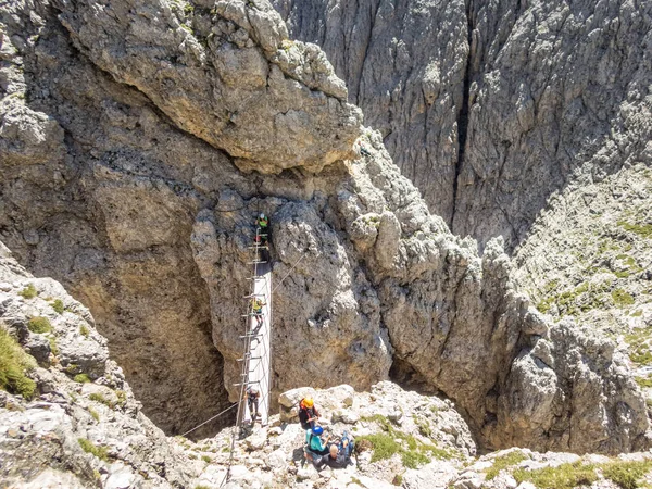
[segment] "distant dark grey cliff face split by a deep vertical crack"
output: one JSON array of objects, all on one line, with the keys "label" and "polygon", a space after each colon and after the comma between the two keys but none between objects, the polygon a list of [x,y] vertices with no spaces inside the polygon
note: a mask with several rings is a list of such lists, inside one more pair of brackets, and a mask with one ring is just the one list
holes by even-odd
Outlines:
[{"label": "distant dark grey cliff face split by a deep vertical crack", "polygon": [[275,0],[429,208],[522,242],[548,198],[650,164],[649,2]]}]

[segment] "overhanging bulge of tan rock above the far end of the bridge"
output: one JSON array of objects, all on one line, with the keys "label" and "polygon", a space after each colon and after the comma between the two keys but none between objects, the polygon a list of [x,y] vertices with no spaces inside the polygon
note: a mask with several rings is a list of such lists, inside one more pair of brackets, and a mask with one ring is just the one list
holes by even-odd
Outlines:
[{"label": "overhanging bulge of tan rock above the far end of the bridge", "polygon": [[162,0],[60,8],[93,63],[241,168],[318,171],[352,154],[360,110],[316,46],[291,46],[268,3],[220,1],[188,17]]}]

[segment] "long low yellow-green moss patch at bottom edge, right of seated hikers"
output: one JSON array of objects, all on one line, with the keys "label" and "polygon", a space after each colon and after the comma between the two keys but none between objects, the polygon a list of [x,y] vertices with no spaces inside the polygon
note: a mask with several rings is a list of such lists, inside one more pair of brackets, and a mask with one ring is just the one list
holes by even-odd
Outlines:
[{"label": "long low yellow-green moss patch at bottom edge, right of seated hikers", "polygon": [[598,480],[595,467],[581,462],[536,471],[516,468],[512,475],[518,484],[532,482],[539,489],[573,489],[577,486],[590,486]]}]

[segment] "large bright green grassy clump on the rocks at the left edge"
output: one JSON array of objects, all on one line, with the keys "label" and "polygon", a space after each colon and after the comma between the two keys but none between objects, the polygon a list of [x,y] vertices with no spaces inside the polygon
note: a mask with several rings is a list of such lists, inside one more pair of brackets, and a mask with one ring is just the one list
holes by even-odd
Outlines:
[{"label": "large bright green grassy clump on the rocks at the left edge", "polygon": [[27,373],[36,367],[36,360],[21,348],[18,342],[0,327],[0,389],[30,400],[36,383]]}]

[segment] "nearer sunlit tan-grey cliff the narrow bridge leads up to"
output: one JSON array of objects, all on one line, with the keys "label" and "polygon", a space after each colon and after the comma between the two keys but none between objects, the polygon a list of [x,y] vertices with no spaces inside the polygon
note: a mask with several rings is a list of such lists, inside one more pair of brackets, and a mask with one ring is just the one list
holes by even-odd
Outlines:
[{"label": "nearer sunlit tan-grey cliff the narrow bridge leads up to", "polygon": [[[429,214],[322,51],[290,41],[268,3],[2,9],[1,237],[88,303],[167,432],[210,417],[225,388],[236,400],[265,211],[275,393],[367,389],[393,365],[453,399],[482,447],[647,446],[620,353],[537,312],[501,239],[480,258]],[[368,155],[349,159],[360,135]]]}]

